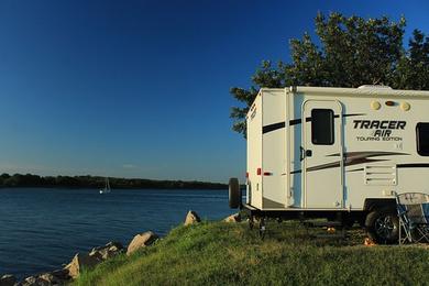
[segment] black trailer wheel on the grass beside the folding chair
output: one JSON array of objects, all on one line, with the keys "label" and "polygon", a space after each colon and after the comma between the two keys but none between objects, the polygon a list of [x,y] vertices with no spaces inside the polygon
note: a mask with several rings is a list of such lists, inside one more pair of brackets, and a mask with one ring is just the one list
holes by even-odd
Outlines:
[{"label": "black trailer wheel on the grass beside the folding chair", "polygon": [[398,241],[399,220],[392,208],[371,211],[366,216],[365,228],[369,237],[377,243],[392,244]]}]

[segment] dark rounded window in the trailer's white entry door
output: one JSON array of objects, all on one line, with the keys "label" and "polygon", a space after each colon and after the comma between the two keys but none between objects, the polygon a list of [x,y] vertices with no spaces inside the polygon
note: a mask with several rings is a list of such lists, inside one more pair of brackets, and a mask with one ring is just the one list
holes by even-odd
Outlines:
[{"label": "dark rounded window in the trailer's white entry door", "polygon": [[311,142],[315,145],[332,145],[333,138],[332,109],[311,110]]}]

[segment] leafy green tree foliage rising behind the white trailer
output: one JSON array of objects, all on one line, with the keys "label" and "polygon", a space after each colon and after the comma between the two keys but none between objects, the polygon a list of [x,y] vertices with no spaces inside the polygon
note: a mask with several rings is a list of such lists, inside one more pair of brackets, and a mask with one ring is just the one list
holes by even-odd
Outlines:
[{"label": "leafy green tree foliage rising behind the white trailer", "polygon": [[405,18],[365,20],[341,13],[316,19],[319,44],[308,33],[290,40],[290,63],[264,61],[250,88],[231,88],[242,102],[233,107],[232,129],[245,135],[245,114],[262,87],[359,87],[387,85],[395,89],[429,89],[429,37],[415,30],[408,48],[403,38]]}]

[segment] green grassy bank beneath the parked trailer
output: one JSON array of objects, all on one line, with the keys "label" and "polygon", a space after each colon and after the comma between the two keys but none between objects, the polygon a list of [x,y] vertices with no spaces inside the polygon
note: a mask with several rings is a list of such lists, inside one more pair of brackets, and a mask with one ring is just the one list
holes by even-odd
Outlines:
[{"label": "green grassy bank beneath the parked trailer", "polygon": [[[429,249],[364,246],[364,234],[311,239],[296,222],[270,222],[264,241],[246,223],[174,229],[134,255],[84,273],[76,285],[424,285]],[[314,230],[311,230],[314,232]]]}]

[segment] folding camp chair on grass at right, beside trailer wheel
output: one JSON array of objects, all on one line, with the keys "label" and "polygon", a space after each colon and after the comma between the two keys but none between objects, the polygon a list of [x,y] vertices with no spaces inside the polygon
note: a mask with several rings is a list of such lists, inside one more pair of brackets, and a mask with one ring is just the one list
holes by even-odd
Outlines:
[{"label": "folding camp chair on grass at right, beside trailer wheel", "polygon": [[396,196],[396,208],[399,217],[399,244],[406,241],[429,242],[429,195],[399,194]]}]

